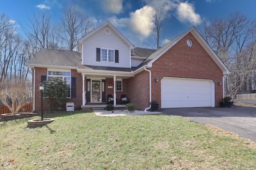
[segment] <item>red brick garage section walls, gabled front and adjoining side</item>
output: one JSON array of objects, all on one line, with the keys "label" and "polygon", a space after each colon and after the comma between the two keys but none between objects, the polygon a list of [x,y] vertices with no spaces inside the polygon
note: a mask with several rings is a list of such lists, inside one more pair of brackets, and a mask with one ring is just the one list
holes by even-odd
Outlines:
[{"label": "red brick garage section walls, gabled front and adjoining side", "polygon": [[[188,47],[186,44],[187,39],[192,40],[192,47]],[[161,108],[161,79],[164,76],[213,80],[215,83],[215,107],[220,106],[222,85],[218,85],[218,81],[222,82],[222,70],[191,33],[188,33],[157,59],[152,64],[152,68],[148,70],[151,71],[152,100],[158,101],[159,108]],[[149,106],[148,76],[149,72],[144,70],[128,79],[130,102],[135,103],[137,109],[145,109]],[[155,77],[158,77],[158,82],[155,82]]]}]

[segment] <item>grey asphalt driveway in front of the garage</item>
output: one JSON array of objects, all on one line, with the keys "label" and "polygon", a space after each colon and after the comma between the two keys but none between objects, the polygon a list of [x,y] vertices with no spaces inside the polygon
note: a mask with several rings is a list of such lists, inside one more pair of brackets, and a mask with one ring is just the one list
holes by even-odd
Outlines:
[{"label": "grey asphalt driveway in front of the garage", "polygon": [[160,112],[180,115],[197,123],[214,125],[256,142],[256,107],[168,108]]}]

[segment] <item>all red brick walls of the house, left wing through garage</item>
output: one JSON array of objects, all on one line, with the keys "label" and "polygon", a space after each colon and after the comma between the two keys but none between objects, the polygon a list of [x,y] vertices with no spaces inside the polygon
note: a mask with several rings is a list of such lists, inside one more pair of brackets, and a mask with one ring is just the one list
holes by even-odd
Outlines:
[{"label": "all red brick walls of the house, left wing through garage", "polygon": [[[187,39],[192,40],[192,47],[188,47],[186,44]],[[47,75],[47,68],[35,69],[35,112],[40,112],[41,99],[38,85],[41,82],[41,75]],[[157,59],[152,64],[152,68],[148,68],[148,70],[150,70],[152,74],[152,100],[158,101],[159,108],[161,108],[161,80],[164,76],[213,80],[215,83],[215,106],[220,106],[220,102],[222,101],[222,85],[218,85],[218,81],[222,81],[222,70],[220,70],[217,64],[191,33],[188,33],[171,49],[164,53],[164,55]],[[76,77],[76,98],[68,99],[68,102],[74,102],[75,109],[79,110],[82,105],[82,75],[81,73],[78,73],[77,70],[71,70],[71,76]],[[158,77],[159,82],[155,82],[155,77]],[[110,82],[112,83],[113,88],[108,88]],[[106,102],[108,94],[112,94],[112,96],[114,95],[113,78],[106,78]],[[126,94],[129,103],[136,104],[136,109],[144,110],[149,107],[149,72],[143,70],[134,77],[123,79],[122,92],[116,92],[117,104],[120,104],[120,97],[122,94]],[[48,110],[48,104],[44,101],[44,111]]]}]

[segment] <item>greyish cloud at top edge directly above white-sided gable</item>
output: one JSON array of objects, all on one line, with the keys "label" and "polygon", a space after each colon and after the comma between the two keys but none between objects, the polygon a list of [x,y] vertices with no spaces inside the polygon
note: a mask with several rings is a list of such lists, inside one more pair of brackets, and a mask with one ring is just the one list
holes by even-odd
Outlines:
[{"label": "greyish cloud at top edge directly above white-sided gable", "polygon": [[107,13],[120,14],[123,10],[122,0],[103,0],[102,9]]}]

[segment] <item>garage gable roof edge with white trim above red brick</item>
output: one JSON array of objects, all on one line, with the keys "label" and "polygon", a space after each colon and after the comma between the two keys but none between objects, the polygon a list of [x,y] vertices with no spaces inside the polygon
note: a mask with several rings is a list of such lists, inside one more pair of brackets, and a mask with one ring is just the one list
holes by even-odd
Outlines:
[{"label": "garage gable roof edge with white trim above red brick", "polygon": [[208,45],[208,43],[206,43],[204,38],[200,35],[200,33],[196,30],[194,26],[188,29],[187,31],[185,31],[184,33],[180,34],[178,37],[176,37],[166,45],[164,45],[164,47],[159,48],[155,53],[150,55],[150,57],[148,57],[148,59],[146,59],[137,68],[141,69],[141,67],[145,65],[152,66],[152,63],[154,63],[154,61],[156,61],[159,57],[161,57],[164,53],[166,53],[166,51],[172,48],[178,41],[180,41],[188,33],[192,33],[192,35],[196,38],[196,40],[200,43],[200,45],[204,48],[204,50],[210,55],[213,61],[219,66],[223,74],[230,74],[230,71],[228,70],[228,68],[220,60],[220,58],[216,55],[216,53],[212,50],[212,48]]}]

